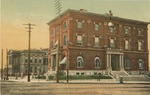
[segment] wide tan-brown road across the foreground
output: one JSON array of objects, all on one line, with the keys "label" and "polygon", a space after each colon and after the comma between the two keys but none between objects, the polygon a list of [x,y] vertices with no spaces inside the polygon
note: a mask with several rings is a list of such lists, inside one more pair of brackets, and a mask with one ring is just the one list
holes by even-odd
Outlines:
[{"label": "wide tan-brown road across the foreground", "polygon": [[2,81],[2,95],[150,95],[150,83],[53,83]]}]

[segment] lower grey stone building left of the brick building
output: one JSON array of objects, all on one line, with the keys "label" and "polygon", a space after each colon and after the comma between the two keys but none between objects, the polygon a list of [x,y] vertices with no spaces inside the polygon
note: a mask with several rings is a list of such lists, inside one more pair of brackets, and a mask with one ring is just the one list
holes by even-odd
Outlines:
[{"label": "lower grey stone building left of the brick building", "polygon": [[[9,74],[28,73],[28,50],[10,50]],[[39,70],[39,71],[38,71]],[[48,70],[48,49],[32,49],[30,51],[30,72],[43,74]]]}]

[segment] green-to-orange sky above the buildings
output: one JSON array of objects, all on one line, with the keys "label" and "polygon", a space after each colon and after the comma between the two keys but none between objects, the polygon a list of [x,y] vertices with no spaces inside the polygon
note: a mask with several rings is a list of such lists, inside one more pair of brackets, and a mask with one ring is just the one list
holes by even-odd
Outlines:
[{"label": "green-to-orange sky above the buildings", "polygon": [[[62,11],[86,9],[88,12],[150,22],[150,0],[60,0]],[[31,48],[48,48],[47,22],[55,18],[54,0],[1,0],[0,47],[28,49],[28,32],[23,24],[32,23]],[[148,26],[150,32],[150,25]],[[150,37],[150,33],[149,33]],[[150,43],[150,42],[149,42]],[[1,55],[0,55],[1,56]]]}]

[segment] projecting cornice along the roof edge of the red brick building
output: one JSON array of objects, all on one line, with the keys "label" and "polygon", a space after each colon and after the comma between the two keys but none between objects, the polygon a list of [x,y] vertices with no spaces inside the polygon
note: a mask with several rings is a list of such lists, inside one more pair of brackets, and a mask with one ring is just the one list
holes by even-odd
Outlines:
[{"label": "projecting cornice along the roof edge of the red brick building", "polygon": [[[69,12],[75,12],[75,13],[80,13],[80,14],[86,14],[86,15],[93,15],[93,16],[97,16],[97,17],[108,18],[108,15],[106,15],[106,14],[98,14],[98,13],[87,12],[84,9],[80,9],[80,10],[68,9],[68,10],[64,11],[62,14],[60,14],[60,16],[57,16],[54,19],[52,19],[51,21],[49,21],[47,24],[50,25],[51,23],[55,22],[59,17],[61,18]],[[145,24],[145,25],[150,24],[150,22],[127,19],[127,18],[121,18],[121,17],[117,17],[117,16],[112,16],[112,19],[118,20],[120,22],[130,22],[130,23],[133,23],[133,24]]]}]

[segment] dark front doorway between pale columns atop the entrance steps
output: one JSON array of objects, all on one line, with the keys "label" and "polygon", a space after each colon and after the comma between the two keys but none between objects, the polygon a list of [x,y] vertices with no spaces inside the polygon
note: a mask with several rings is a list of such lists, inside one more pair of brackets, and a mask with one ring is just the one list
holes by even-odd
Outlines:
[{"label": "dark front doorway between pale columns atop the entrance steps", "polygon": [[112,54],[111,55],[111,67],[112,70],[118,71],[119,68],[119,54]]}]

